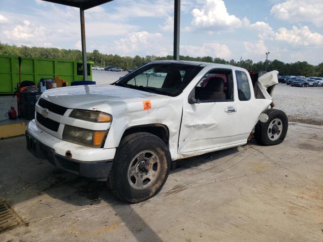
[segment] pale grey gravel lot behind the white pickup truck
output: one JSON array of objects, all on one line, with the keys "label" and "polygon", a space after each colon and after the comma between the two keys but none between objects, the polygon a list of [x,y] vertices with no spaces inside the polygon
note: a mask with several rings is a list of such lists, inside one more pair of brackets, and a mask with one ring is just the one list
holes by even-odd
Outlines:
[{"label": "pale grey gravel lot behind the white pickup truck", "polygon": [[[126,74],[93,70],[93,81],[108,84]],[[323,125],[323,87],[291,87],[281,83],[275,87],[273,98],[275,108],[285,111],[290,122]]]}]

